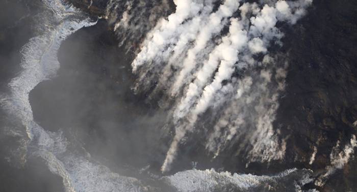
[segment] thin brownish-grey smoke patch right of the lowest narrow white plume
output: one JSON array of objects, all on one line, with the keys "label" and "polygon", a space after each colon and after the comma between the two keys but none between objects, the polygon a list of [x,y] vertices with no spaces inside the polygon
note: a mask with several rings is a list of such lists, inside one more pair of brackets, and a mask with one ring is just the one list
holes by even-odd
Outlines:
[{"label": "thin brownish-grey smoke patch right of the lowest narrow white plume", "polygon": [[273,76],[269,70],[272,62],[274,60],[266,56],[262,65],[268,69],[260,73],[251,72],[251,76],[239,80],[234,99],[224,110],[208,139],[206,147],[215,156],[230,143],[236,143],[235,138],[245,135],[246,141],[253,146],[249,152],[250,161],[271,161],[284,157],[285,144],[283,141],[282,146],[279,146],[272,121],[278,107],[278,93],[284,90],[284,67],[287,64],[276,69]]}]

